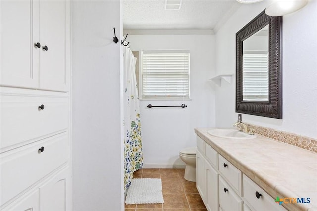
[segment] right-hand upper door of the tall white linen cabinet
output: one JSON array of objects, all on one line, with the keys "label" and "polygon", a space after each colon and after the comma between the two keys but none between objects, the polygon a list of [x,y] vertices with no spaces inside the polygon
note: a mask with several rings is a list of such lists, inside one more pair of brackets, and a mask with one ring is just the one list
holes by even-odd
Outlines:
[{"label": "right-hand upper door of the tall white linen cabinet", "polygon": [[[40,0],[40,84],[43,90],[67,91],[70,2]],[[43,47],[47,47],[47,50]]]}]

